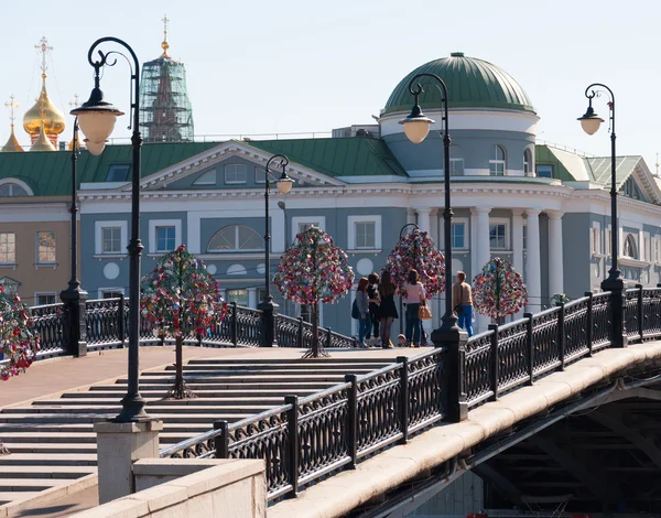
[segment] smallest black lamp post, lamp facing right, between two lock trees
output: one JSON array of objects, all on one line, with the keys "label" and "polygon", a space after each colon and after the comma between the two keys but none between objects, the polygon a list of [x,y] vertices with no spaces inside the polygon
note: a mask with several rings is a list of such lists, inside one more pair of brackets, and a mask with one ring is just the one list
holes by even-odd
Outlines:
[{"label": "smallest black lamp post, lamp facing right, between two lock trees", "polygon": [[275,335],[275,321],[274,312],[278,309],[278,304],[273,302],[271,295],[271,261],[269,253],[271,252],[271,233],[269,224],[269,194],[271,192],[271,181],[269,175],[271,174],[271,163],[279,162],[282,174],[275,181],[278,191],[282,194],[288,194],[292,190],[294,181],[286,175],[286,166],[289,165],[289,159],[284,154],[275,154],[267,162],[267,170],[264,171],[266,188],[264,188],[264,214],[266,214],[266,233],[264,233],[264,300],[257,306],[262,312],[262,333],[261,333],[261,346],[273,347],[273,341]]}]

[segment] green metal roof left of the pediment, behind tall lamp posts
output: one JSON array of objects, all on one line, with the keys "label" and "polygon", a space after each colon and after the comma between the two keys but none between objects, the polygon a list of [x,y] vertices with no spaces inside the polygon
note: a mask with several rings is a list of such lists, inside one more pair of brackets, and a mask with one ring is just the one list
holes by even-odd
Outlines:
[{"label": "green metal roof left of the pediment, behind tall lamp posts", "polygon": [[[149,176],[215,145],[218,145],[218,142],[143,144],[141,176]],[[78,157],[78,185],[82,182],[106,182],[110,165],[130,163],[131,145],[108,145],[99,157],[94,157],[84,150]],[[72,153],[71,151],[0,153],[0,179],[10,177],[25,182],[35,196],[71,194]]]}]

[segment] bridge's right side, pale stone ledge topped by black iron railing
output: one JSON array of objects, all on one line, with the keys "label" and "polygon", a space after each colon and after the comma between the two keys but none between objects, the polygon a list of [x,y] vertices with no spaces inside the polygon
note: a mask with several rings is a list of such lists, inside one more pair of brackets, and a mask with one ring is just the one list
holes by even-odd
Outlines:
[{"label": "bridge's right side, pale stone ledge topped by black iron railing", "polygon": [[467,344],[437,344],[253,418],[217,422],[162,456],[266,458],[269,516],[278,518],[391,516],[412,494],[472,468],[514,503],[552,500],[556,492],[527,495],[479,466],[567,416],[655,399],[641,387],[661,381],[659,336],[661,289],[586,294]]}]

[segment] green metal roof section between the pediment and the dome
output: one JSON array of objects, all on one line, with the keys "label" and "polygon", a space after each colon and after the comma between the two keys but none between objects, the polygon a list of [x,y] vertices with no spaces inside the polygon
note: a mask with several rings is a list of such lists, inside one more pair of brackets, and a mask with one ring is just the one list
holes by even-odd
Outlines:
[{"label": "green metal roof section between the pediment and the dome", "polygon": [[259,140],[249,142],[269,153],[285,154],[328,176],[408,176],[386,142],[368,137]]}]

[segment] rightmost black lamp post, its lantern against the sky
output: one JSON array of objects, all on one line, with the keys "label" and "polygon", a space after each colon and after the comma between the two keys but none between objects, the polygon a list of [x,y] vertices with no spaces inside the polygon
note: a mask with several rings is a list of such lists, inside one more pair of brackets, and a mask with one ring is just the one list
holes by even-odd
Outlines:
[{"label": "rightmost black lamp post, its lantern against the sky", "polygon": [[618,234],[619,225],[617,222],[617,181],[615,176],[616,154],[615,154],[615,95],[613,90],[602,83],[593,83],[585,89],[587,97],[587,110],[582,117],[578,117],[583,130],[587,134],[595,134],[599,129],[604,119],[602,119],[592,107],[592,100],[598,97],[599,93],[608,91],[610,100],[608,108],[610,109],[610,270],[608,278],[602,282],[602,290],[610,291],[615,295],[613,298],[613,346],[626,347],[627,332],[624,322],[625,307],[625,280],[617,265],[618,255]]}]

